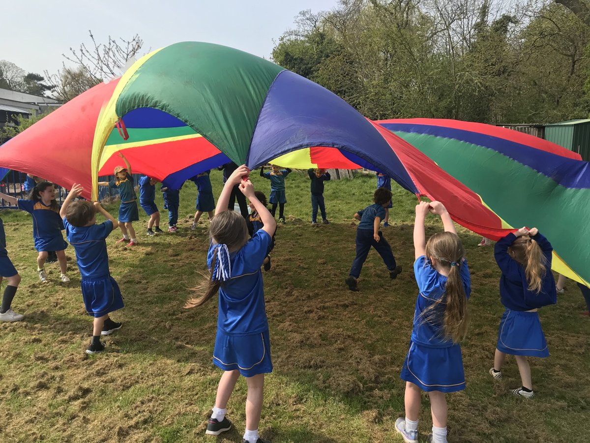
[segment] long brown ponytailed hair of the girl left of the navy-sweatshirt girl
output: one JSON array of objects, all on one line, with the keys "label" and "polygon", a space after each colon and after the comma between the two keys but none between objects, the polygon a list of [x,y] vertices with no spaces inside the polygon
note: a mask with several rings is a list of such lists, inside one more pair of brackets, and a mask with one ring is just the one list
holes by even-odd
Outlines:
[{"label": "long brown ponytailed hair of the girl left of the navy-sweatshirt girl", "polygon": [[466,266],[462,263],[465,256],[463,243],[453,232],[440,232],[434,234],[426,243],[426,255],[432,257],[442,266],[450,267],[447,275],[447,284],[444,287],[443,296],[424,311],[425,319],[440,320],[429,318],[436,315],[439,304],[444,303],[444,320],[442,321],[444,336],[447,339],[457,343],[467,334],[469,324],[469,314],[467,311],[467,296],[463,281],[461,280],[460,266]]}]

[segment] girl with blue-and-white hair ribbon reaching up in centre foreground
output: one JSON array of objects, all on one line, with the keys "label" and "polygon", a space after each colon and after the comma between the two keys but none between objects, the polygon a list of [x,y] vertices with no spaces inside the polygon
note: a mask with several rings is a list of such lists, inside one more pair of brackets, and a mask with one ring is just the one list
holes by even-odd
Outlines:
[{"label": "girl with blue-and-white hair ribbon reaching up in centre foreground", "polygon": [[[248,172],[248,168],[241,165],[225,182],[215,217],[211,220],[211,246],[207,255],[211,278],[199,288],[202,291],[198,289],[201,297],[189,300],[186,307],[202,305],[219,292],[213,363],[224,370],[224,374],[219,380],[206,434],[219,435],[231,429],[231,422],[225,418],[225,407],[242,374],[248,385],[246,430],[242,443],[270,443],[258,435],[264,373],[273,370],[260,266],[277,223],[255,196],[254,187],[247,178]],[[242,180],[244,176],[247,180]],[[234,185],[240,186],[240,191],[253,204],[264,224],[250,240],[244,217],[227,207]]]}]

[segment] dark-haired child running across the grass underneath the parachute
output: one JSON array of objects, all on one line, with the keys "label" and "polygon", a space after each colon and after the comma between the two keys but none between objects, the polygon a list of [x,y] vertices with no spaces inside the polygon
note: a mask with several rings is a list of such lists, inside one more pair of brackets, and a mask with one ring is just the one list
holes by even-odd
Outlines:
[{"label": "dark-haired child running across the grass underneath the parachute", "polygon": [[360,276],[360,270],[367,258],[371,246],[381,255],[383,263],[389,270],[389,278],[395,279],[402,267],[396,265],[394,253],[391,252],[391,246],[379,230],[379,224],[385,216],[385,207],[391,200],[391,191],[385,188],[378,188],[373,195],[375,204],[367,206],[365,209],[355,214],[355,219],[360,220],[356,229],[356,257],[352,262],[352,268],[345,283],[350,291],[358,291],[356,279]]}]

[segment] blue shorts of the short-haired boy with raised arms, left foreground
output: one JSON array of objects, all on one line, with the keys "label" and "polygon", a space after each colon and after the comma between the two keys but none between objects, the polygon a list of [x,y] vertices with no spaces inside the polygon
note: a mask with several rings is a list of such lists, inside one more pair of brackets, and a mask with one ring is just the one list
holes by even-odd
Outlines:
[{"label": "blue shorts of the short-haired boy with raised arms, left foreground", "polygon": [[119,285],[110,275],[97,279],[83,278],[81,286],[86,311],[94,317],[103,317],[124,306]]}]

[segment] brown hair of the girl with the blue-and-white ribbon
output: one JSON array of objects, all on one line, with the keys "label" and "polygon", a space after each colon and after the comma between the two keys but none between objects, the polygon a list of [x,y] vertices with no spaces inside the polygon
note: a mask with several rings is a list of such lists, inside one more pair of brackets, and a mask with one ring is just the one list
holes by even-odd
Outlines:
[{"label": "brown hair of the girl with the blue-and-white ribbon", "polygon": [[[248,242],[249,235],[246,220],[241,214],[235,211],[223,211],[211,219],[209,237],[211,237],[212,242],[219,245],[227,245],[230,253],[236,252],[242,249]],[[194,297],[186,301],[185,308],[201,306],[219,291],[219,286],[222,285],[222,282],[213,281],[216,260],[217,254],[211,260],[209,275],[203,274],[203,281],[192,288]]]}]

